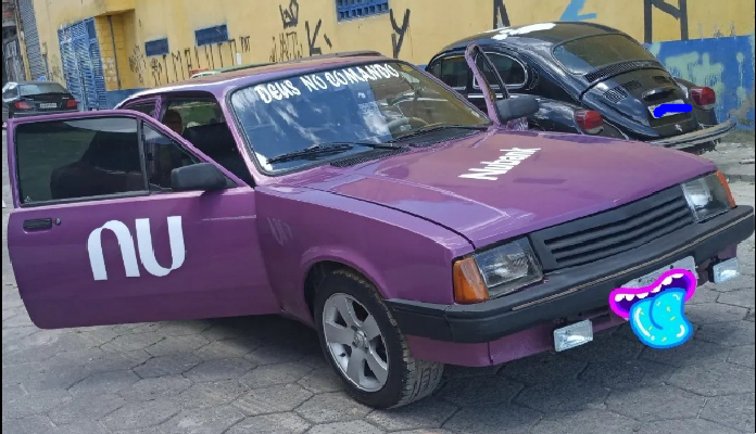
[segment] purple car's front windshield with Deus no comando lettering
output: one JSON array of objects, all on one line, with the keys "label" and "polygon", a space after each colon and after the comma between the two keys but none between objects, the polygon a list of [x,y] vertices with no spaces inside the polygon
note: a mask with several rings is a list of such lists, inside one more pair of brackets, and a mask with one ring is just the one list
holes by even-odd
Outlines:
[{"label": "purple car's front windshield with Deus no comando lettering", "polygon": [[[242,88],[231,95],[231,106],[248,144],[267,171],[376,149],[358,142],[386,143],[401,141],[406,135],[415,137],[420,129],[490,124],[484,114],[424,73],[386,61]],[[345,145],[350,143],[353,146]],[[329,144],[341,146],[336,153],[277,158]]]}]

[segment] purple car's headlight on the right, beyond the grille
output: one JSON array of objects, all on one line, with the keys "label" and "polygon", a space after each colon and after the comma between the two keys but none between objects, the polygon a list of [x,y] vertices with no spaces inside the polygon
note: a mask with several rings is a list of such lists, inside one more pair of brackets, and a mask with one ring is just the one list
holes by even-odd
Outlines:
[{"label": "purple car's headlight on the right, beyond the grille", "polygon": [[682,184],[695,221],[704,221],[735,206],[721,173],[709,174]]}]

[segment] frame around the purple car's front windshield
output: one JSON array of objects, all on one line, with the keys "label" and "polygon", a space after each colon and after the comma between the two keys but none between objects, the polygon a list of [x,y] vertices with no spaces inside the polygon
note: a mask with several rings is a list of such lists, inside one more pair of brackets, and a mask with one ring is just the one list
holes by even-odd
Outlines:
[{"label": "frame around the purple car's front windshield", "polygon": [[[404,64],[406,66],[410,66],[411,68],[415,69],[418,74],[424,75],[426,78],[428,78],[428,79],[432,80],[433,82],[438,84],[439,86],[441,86],[444,90],[449,91],[449,93],[452,97],[454,97],[457,101],[461,101],[467,107],[469,107],[472,112],[480,114],[484,119],[487,119],[488,122],[484,124],[481,124],[480,125],[481,127],[486,127],[488,129],[488,128],[491,128],[492,126],[494,126],[494,123],[491,120],[488,113],[478,108],[475,104],[472,104],[470,101],[468,101],[465,97],[459,94],[453,88],[450,88],[445,82],[441,81],[439,78],[437,78],[432,74],[427,73],[425,69],[417,67],[417,65],[414,65],[410,62],[402,61],[399,59],[378,58],[378,59],[370,59],[370,60],[364,60],[364,61],[358,61],[358,62],[341,63],[338,65],[328,64],[328,65],[323,65],[323,66],[319,66],[316,68],[305,69],[305,71],[299,69],[297,72],[293,72],[293,71],[286,72],[284,74],[276,75],[275,77],[272,77],[270,79],[254,80],[252,82],[248,82],[248,84],[244,84],[242,86],[235,87],[230,91],[226,92],[226,95],[224,98],[224,102],[225,102],[226,108],[228,111],[228,118],[234,119],[234,128],[236,128],[236,132],[241,138],[241,142],[242,142],[241,144],[243,144],[244,152],[252,161],[252,164],[254,165],[257,173],[265,175],[267,177],[281,177],[281,176],[286,176],[286,175],[295,174],[299,171],[308,170],[308,169],[312,169],[315,167],[325,166],[325,165],[328,165],[335,161],[342,159],[342,158],[344,158],[344,156],[336,154],[336,155],[330,156],[330,157],[318,158],[316,161],[303,163],[301,165],[293,166],[293,167],[273,169],[273,170],[266,169],[265,167],[263,167],[260,164],[260,161],[257,159],[257,156],[255,155],[254,146],[251,144],[250,138],[247,137],[247,131],[245,131],[243,125],[241,125],[241,120],[239,119],[239,115],[237,114],[237,111],[236,111],[234,103],[231,101],[231,99],[234,98],[234,95],[237,92],[245,90],[245,89],[254,88],[255,86],[264,85],[267,82],[275,82],[275,81],[286,80],[286,79],[301,77],[301,76],[305,76],[305,75],[318,74],[318,73],[333,71],[333,69],[340,69],[340,68],[349,68],[349,67],[357,67],[357,66],[363,66],[363,65],[370,65],[370,64],[376,64],[376,63],[381,63],[381,62],[401,63],[401,64]],[[483,131],[481,130],[481,132],[483,132]],[[370,151],[375,151],[375,150],[366,149],[366,151],[370,152]],[[354,154],[352,154],[352,155],[354,155]],[[395,155],[395,154],[393,154],[393,155]]]}]

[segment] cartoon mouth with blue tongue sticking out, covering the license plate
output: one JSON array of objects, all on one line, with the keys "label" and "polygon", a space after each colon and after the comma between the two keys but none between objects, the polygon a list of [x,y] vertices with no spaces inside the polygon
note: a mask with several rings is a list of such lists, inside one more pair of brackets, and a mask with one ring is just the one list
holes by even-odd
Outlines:
[{"label": "cartoon mouth with blue tongue sticking out, covering the license plate", "polygon": [[671,348],[693,335],[684,304],[695,293],[696,277],[690,270],[665,271],[648,286],[618,288],[609,294],[609,307],[630,321],[642,343],[653,348]]}]

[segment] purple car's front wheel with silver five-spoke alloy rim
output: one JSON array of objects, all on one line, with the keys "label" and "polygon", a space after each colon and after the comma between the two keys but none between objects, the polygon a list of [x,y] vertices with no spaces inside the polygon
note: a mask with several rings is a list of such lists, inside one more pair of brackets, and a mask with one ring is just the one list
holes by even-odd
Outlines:
[{"label": "purple car's front wheel with silver five-spoke alloy rim", "polygon": [[[356,324],[357,330],[354,330],[355,327],[342,327],[338,329],[344,333],[338,334],[341,339],[335,340],[333,336],[337,334],[330,333],[329,342],[326,340],[326,327],[332,331],[333,324],[348,324],[345,317],[341,315],[344,307],[341,302],[344,299],[352,304],[352,322]],[[337,305],[341,308],[336,307]],[[438,387],[443,374],[443,363],[417,360],[412,356],[406,339],[396,327],[396,321],[381,301],[378,291],[357,273],[335,270],[327,275],[315,294],[314,308],[315,327],[326,360],[356,400],[374,408],[396,408],[425,398]],[[329,326],[324,322],[324,316]],[[379,335],[368,337],[375,335],[376,329]],[[351,344],[335,343],[349,341],[350,333],[354,336]],[[339,353],[343,355],[337,356]],[[366,357],[364,361],[361,354]],[[355,375],[354,371],[351,371],[352,378],[360,379],[357,382],[351,380],[348,374],[351,360],[358,360],[357,366],[363,367],[362,374]],[[376,366],[376,360],[379,363],[387,361],[385,365],[388,375],[376,374],[373,371],[371,366]],[[385,376],[383,381],[381,376]]]}]

